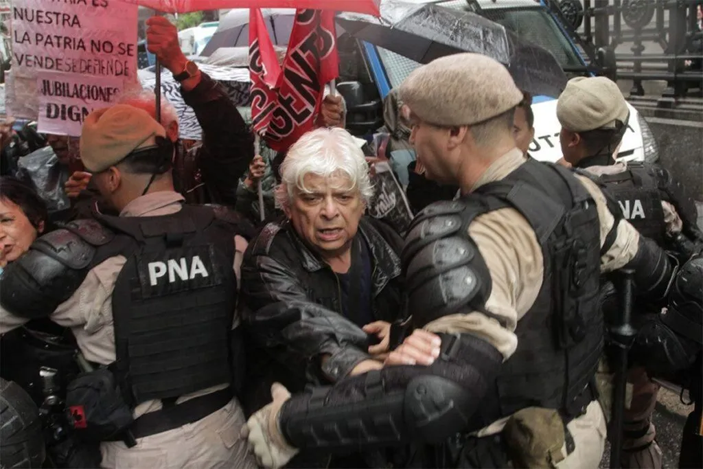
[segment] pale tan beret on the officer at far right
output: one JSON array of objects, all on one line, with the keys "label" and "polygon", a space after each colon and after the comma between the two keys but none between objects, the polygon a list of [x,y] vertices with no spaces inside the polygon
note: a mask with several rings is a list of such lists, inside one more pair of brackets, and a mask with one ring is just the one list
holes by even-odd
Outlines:
[{"label": "pale tan beret on the officer at far right", "polygon": [[627,122],[630,110],[617,84],[606,77],[569,80],[557,101],[557,119],[567,130],[614,129]]}]

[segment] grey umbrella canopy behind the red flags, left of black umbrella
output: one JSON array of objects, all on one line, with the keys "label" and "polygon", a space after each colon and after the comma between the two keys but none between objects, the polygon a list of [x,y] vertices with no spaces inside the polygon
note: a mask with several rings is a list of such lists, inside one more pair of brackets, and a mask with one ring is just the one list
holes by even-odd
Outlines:
[{"label": "grey umbrella canopy behind the red flags, left of black umbrella", "polygon": [[[288,44],[290,32],[295,23],[295,10],[291,8],[262,9],[264,24],[269,30],[269,37],[274,46]],[[220,20],[215,34],[202,49],[201,56],[211,56],[222,47],[249,47],[249,8],[237,8],[229,11]]]}]

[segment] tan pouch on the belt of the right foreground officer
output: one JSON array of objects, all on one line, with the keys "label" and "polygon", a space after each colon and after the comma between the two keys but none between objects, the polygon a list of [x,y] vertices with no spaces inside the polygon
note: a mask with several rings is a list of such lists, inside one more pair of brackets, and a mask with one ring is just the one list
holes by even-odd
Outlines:
[{"label": "tan pouch on the belt of the right foreground officer", "polygon": [[553,468],[564,459],[564,422],[555,409],[528,407],[505,423],[503,436],[515,468]]}]

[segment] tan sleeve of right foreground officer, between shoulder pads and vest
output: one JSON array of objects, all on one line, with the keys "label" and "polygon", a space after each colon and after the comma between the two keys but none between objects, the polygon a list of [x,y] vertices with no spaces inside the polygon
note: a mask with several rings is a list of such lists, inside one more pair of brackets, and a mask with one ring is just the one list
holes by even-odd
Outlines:
[{"label": "tan sleeve of right foreground officer, between shoulder pads and vest", "polygon": [[472,333],[496,347],[504,359],[517,348],[515,326],[537,298],[543,279],[543,256],[528,221],[512,208],[477,217],[469,226],[491,271],[491,295],[486,310],[503,325],[478,311],[452,314],[425,326],[431,332]]}]

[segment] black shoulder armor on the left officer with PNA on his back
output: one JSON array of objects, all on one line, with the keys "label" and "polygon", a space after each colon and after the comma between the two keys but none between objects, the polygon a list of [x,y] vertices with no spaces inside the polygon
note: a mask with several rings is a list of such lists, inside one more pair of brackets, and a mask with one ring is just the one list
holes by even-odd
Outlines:
[{"label": "black shoulder armor on the left officer with PNA on his back", "polygon": [[0,304],[27,319],[49,316],[83,283],[95,252],[94,245],[68,229],[41,236],[3,271]]}]

